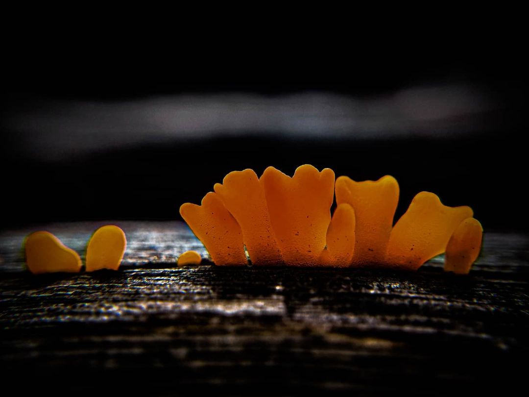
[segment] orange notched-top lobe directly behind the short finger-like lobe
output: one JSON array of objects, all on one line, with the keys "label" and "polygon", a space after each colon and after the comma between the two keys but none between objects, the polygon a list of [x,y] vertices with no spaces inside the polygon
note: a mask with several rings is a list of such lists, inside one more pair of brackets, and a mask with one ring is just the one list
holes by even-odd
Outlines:
[{"label": "orange notched-top lobe directly behind the short finger-like lobe", "polygon": [[398,196],[399,187],[393,176],[364,182],[347,176],[336,179],[336,203],[350,204],[356,216],[353,265],[384,261]]}]

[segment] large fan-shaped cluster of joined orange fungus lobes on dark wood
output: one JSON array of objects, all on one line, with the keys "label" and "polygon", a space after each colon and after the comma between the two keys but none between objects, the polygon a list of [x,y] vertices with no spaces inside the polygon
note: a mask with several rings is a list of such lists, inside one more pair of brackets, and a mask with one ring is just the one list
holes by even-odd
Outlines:
[{"label": "large fan-shaped cluster of joined orange fungus lobes on dark wood", "polygon": [[394,225],[399,186],[389,175],[335,181],[329,168],[303,165],[289,177],[268,167],[260,178],[251,169],[231,172],[214,190],[180,214],[216,265],[245,265],[248,254],[257,266],[416,270],[446,251],[446,270],[468,273],[481,244],[472,209],[445,206],[429,192],[417,194]]}]

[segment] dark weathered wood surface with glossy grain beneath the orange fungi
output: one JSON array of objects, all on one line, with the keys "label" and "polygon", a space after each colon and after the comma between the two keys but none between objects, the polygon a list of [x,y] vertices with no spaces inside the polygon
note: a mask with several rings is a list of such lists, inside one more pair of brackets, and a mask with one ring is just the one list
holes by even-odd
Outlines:
[{"label": "dark weathered wood surface with glossy grain beneath the orange fungi", "polygon": [[[103,223],[45,228],[80,254]],[[33,276],[30,230],[0,234],[0,362],[19,392],[446,395],[525,376],[529,238],[487,233],[469,276],[177,268],[205,251],[179,222],[118,222],[118,272]]]}]

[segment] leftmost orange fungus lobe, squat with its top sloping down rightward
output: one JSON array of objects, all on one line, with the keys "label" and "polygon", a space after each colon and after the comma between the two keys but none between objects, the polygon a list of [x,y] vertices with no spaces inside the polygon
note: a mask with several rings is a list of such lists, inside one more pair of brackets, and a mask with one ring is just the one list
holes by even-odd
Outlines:
[{"label": "leftmost orange fungus lobe, squat with its top sloping down rightward", "polygon": [[81,258],[53,234],[46,231],[31,233],[25,240],[26,264],[33,274],[81,270]]}]

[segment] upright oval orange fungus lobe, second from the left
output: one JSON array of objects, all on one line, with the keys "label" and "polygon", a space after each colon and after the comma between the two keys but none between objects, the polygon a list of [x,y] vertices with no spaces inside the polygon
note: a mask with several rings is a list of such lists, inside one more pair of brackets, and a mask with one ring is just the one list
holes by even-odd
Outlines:
[{"label": "upright oval orange fungus lobe, second from the left", "polygon": [[116,225],[105,225],[97,229],[86,248],[86,271],[117,270],[121,265],[126,246],[125,232]]}]

